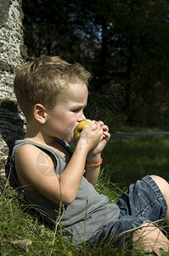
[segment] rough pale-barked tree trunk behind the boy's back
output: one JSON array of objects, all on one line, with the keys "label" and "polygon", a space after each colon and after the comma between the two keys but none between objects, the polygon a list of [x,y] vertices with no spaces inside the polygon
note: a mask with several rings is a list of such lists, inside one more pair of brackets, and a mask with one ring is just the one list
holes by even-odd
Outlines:
[{"label": "rough pale-barked tree trunk behind the boy's back", "polygon": [[25,61],[21,0],[0,0],[0,192],[7,183],[14,140],[24,136],[25,119],[18,111],[13,82]]}]

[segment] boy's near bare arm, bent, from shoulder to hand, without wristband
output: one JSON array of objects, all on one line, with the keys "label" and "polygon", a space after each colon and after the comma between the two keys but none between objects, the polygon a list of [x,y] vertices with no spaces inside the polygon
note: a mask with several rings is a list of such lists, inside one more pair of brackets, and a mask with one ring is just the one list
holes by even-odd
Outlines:
[{"label": "boy's near bare arm, bent, from shoulder to hand, without wristband", "polygon": [[90,125],[85,130],[69,164],[60,176],[54,172],[54,163],[47,154],[45,161],[42,162],[44,153],[40,149],[31,145],[20,147],[15,159],[20,185],[28,186],[27,189],[25,187],[26,191],[29,189],[39,191],[57,204],[62,201],[67,205],[74,201],[82,181],[87,154],[99,144],[103,133],[99,124]]}]

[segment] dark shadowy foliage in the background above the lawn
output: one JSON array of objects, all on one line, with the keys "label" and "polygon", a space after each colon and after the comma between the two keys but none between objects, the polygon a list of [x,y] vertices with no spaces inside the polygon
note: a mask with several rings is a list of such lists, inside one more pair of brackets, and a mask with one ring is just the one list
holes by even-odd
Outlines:
[{"label": "dark shadowy foliage in the background above the lawn", "polygon": [[168,125],[167,0],[27,0],[23,11],[29,59],[59,55],[93,73],[89,118]]}]

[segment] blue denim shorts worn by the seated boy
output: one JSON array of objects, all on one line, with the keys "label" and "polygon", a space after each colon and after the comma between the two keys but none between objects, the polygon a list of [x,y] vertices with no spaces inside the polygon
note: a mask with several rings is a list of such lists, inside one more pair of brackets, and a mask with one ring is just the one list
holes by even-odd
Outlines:
[{"label": "blue denim shorts worn by the seated boy", "polygon": [[104,225],[88,241],[90,244],[112,242],[123,247],[127,241],[132,241],[135,228],[145,222],[157,225],[165,222],[166,200],[149,175],[130,185],[128,192],[123,193],[116,204],[120,208],[119,218]]}]

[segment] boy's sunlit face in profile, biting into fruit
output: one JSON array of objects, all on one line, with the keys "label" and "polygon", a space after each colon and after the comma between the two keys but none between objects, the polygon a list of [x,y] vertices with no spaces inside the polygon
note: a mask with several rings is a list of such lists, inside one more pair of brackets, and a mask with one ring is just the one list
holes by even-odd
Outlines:
[{"label": "boy's sunlit face in profile, biting into fruit", "polygon": [[83,109],[87,105],[87,96],[86,84],[70,84],[60,96],[59,103],[47,114],[48,136],[59,137],[69,143],[74,140],[76,125],[86,119]]}]

